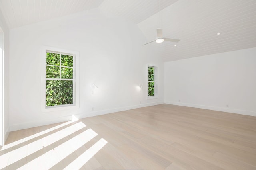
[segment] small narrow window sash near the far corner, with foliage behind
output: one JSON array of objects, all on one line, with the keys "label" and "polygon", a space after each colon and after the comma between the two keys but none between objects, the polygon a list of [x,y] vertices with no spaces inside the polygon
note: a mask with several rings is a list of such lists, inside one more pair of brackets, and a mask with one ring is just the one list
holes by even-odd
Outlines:
[{"label": "small narrow window sash near the far corner, with foliage behind", "polygon": [[156,96],[156,67],[148,66],[148,97]]}]

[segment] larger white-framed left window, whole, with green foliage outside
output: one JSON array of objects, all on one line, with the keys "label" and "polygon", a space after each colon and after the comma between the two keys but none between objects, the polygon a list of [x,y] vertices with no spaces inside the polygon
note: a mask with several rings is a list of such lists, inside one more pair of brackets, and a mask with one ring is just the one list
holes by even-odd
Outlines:
[{"label": "larger white-framed left window, whole, with green foliage outside", "polygon": [[41,47],[41,111],[79,108],[79,52]]}]

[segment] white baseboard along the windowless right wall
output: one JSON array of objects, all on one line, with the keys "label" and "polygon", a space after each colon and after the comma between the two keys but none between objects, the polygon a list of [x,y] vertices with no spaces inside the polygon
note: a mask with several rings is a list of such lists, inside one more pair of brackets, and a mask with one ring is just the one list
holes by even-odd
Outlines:
[{"label": "white baseboard along the windowless right wall", "polygon": [[236,113],[236,114],[248,115],[248,116],[256,116],[256,112],[247,111],[247,110],[230,109],[230,108],[224,108],[224,107],[205,106],[205,105],[189,104],[189,103],[182,103],[182,102],[171,102],[171,101],[164,101],[164,103],[178,105],[178,106],[195,107],[199,109],[208,109],[208,110],[222,111],[222,112],[228,112],[228,113]]}]

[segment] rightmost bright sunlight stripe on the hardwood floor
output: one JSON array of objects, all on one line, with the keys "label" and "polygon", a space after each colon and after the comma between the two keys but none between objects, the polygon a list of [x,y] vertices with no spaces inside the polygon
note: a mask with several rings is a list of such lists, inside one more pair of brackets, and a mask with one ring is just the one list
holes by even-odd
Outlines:
[{"label": "rightmost bright sunlight stripe on the hardwood floor", "polygon": [[98,142],[92,145],[88,150],[82,153],[78,158],[71,162],[64,170],[78,170],[88,162],[100,149],[102,149],[108,142],[101,138]]}]

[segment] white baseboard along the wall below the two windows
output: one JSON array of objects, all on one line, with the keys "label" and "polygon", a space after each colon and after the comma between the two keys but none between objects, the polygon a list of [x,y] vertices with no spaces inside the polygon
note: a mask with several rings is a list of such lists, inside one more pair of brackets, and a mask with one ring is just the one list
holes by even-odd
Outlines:
[{"label": "white baseboard along the wall below the two windows", "polygon": [[[130,109],[136,109],[136,108],[140,108],[140,107],[154,106],[154,105],[158,105],[158,104],[164,104],[164,101],[152,102],[152,103],[147,103],[147,104],[139,104],[139,105],[134,105],[134,106],[119,107],[119,108],[115,108],[115,109],[90,111],[87,113],[75,114],[74,116],[78,119],[81,119],[81,118],[85,118],[85,117],[104,115],[104,114],[114,113],[114,112],[118,112],[118,111],[126,111],[126,110],[130,110]],[[58,118],[54,118],[54,119],[45,119],[45,120],[40,120],[40,121],[19,123],[19,124],[15,124],[15,125],[10,125],[10,131],[17,131],[17,130],[21,130],[21,129],[28,129],[31,127],[50,125],[53,123],[60,123],[60,122],[70,121],[70,120],[72,120],[72,115],[58,117]]]}]

